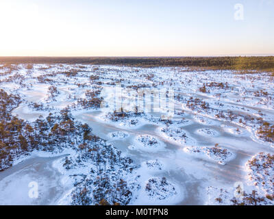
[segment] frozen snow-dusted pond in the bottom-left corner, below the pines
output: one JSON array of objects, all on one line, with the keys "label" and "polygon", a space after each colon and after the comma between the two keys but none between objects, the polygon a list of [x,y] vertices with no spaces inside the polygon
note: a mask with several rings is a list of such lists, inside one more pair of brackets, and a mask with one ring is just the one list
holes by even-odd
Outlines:
[{"label": "frozen snow-dusted pond in the bottom-left corner, below the pines", "polygon": [[[52,162],[63,156],[32,157],[0,172],[0,205],[54,205],[66,190],[61,184],[62,175]],[[38,197],[29,196],[38,185]]]}]

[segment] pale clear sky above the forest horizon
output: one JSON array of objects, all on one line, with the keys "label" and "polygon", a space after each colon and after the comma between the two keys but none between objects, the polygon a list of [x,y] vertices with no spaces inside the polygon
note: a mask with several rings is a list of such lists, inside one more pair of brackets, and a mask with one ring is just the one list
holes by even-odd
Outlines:
[{"label": "pale clear sky above the forest horizon", "polygon": [[0,29],[1,56],[274,55],[274,0],[0,0]]}]

